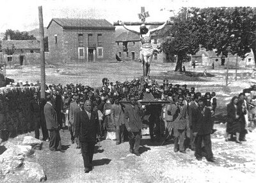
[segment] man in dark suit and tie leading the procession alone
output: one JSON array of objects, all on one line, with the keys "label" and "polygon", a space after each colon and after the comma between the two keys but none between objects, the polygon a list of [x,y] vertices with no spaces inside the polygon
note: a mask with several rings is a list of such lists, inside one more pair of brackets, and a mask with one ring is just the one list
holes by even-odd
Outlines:
[{"label": "man in dark suit and tie leading the procession alone", "polygon": [[75,139],[79,136],[81,143],[81,153],[84,161],[84,173],[92,171],[92,159],[97,140],[97,129],[99,129],[99,116],[96,111],[92,111],[92,102],[86,100],[84,107],[80,101],[80,106],[84,110],[76,114]]}]

